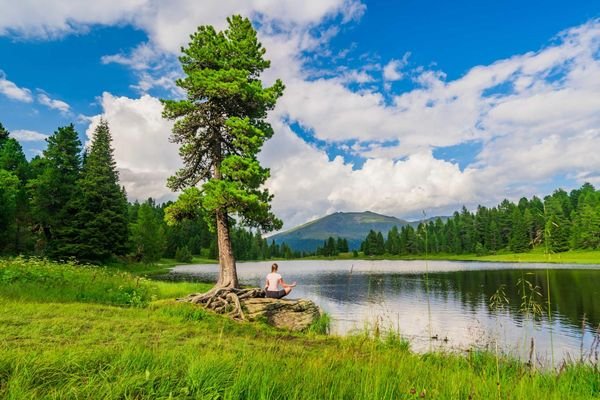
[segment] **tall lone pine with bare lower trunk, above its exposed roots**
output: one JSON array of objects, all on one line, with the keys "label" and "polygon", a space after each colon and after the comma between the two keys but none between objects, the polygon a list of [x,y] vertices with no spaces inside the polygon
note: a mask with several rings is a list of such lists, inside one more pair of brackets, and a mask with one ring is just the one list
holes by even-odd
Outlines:
[{"label": "tall lone pine with bare lower trunk, above its exposed roots", "polygon": [[171,177],[173,190],[201,181],[201,207],[211,217],[219,244],[221,270],[216,287],[238,287],[229,215],[245,225],[269,232],[282,223],[271,212],[272,196],[262,186],[269,177],[257,159],[273,135],[267,112],[283,94],[275,81],[263,87],[260,74],[270,62],[250,20],[227,19],[228,29],[217,32],[200,26],[180,57],[185,77],[177,81],[185,100],[164,101],[163,116],[175,120],[172,139],[181,145],[184,167]]}]

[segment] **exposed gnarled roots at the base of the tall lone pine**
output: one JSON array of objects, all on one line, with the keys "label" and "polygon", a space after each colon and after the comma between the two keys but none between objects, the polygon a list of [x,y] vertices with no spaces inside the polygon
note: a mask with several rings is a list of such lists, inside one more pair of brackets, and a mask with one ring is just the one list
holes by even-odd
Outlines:
[{"label": "exposed gnarled roots at the base of the tall lone pine", "polygon": [[245,321],[241,300],[255,297],[265,297],[265,291],[259,288],[214,288],[207,293],[193,293],[177,300],[199,304],[218,314],[227,314],[233,319]]}]

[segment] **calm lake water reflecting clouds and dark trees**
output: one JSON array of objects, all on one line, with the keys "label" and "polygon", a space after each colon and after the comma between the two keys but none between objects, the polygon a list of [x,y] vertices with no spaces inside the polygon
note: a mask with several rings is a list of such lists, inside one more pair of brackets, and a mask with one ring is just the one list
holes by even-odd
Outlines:
[{"label": "calm lake water reflecting clouds and dark trees", "polygon": [[[279,262],[286,282],[297,281],[290,298],[315,301],[332,317],[332,333],[398,331],[415,351],[495,348],[528,360],[531,338],[537,360],[589,356],[600,324],[600,266],[509,264],[459,261],[308,260]],[[242,284],[264,286],[271,262],[238,263]],[[172,270],[203,280],[217,279],[217,265]],[[548,268],[548,270],[546,270]],[[426,276],[428,279],[426,279]],[[538,287],[538,318],[522,311],[525,279]],[[504,285],[508,305],[490,306]],[[548,318],[550,286],[552,321]],[[528,290],[526,294],[530,294]],[[433,337],[434,339],[430,339]]]}]

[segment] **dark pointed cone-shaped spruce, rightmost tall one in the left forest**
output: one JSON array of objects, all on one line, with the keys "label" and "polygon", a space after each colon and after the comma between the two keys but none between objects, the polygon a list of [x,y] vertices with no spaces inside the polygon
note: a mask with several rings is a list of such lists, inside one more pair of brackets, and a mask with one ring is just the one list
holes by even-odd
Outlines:
[{"label": "dark pointed cone-shaped spruce, rightmost tall one in the left forest", "polygon": [[65,232],[72,238],[65,252],[80,260],[106,261],[127,251],[127,200],[119,176],[106,121],[100,121],[83,165],[80,194],[72,202],[76,227]]}]

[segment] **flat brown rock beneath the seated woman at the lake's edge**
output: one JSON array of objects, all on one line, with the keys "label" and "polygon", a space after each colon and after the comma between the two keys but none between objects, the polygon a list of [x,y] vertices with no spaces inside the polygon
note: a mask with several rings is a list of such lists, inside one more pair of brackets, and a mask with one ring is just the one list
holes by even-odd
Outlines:
[{"label": "flat brown rock beneath the seated woman at the lake's edge", "polygon": [[306,299],[250,298],[241,301],[249,320],[265,318],[277,328],[302,331],[321,316],[321,309]]}]

